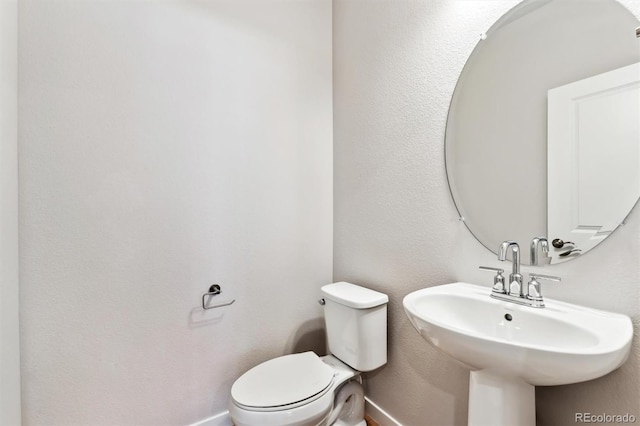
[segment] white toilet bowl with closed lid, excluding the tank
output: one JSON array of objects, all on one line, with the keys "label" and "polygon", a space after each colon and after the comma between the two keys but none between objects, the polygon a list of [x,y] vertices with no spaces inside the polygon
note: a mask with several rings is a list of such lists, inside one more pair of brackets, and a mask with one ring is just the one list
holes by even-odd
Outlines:
[{"label": "white toilet bowl with closed lid, excluding the tank", "polygon": [[359,374],[332,355],[275,358],[234,383],[229,415],[235,426],[365,426]]}]

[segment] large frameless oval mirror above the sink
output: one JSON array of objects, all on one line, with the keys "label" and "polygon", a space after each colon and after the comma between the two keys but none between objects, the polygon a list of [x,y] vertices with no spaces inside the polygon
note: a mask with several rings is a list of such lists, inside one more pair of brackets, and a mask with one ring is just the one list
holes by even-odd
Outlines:
[{"label": "large frameless oval mirror above the sink", "polygon": [[545,237],[540,263],[559,263],[623,223],[640,196],[639,26],[616,0],[525,0],[482,35],[445,158],[458,212],[489,250]]}]

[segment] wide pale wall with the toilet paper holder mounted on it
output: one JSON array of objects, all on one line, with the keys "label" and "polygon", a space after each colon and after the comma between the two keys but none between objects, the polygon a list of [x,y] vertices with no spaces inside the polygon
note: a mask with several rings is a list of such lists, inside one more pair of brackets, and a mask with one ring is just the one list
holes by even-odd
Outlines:
[{"label": "wide pale wall with the toilet paper holder mounted on it", "polygon": [[[321,346],[331,3],[19,13],[24,423],[192,423]],[[237,301],[203,312],[214,282]]]}]

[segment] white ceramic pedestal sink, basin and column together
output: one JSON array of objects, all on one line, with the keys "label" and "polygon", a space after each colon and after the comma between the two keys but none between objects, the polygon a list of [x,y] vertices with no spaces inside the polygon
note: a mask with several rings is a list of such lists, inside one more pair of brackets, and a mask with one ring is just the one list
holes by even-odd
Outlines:
[{"label": "white ceramic pedestal sink, basin and column together", "polygon": [[633,328],[625,315],[546,298],[545,308],[532,308],[490,293],[454,283],[403,301],[420,335],[471,369],[470,426],[535,426],[534,386],[595,379],[629,355]]}]

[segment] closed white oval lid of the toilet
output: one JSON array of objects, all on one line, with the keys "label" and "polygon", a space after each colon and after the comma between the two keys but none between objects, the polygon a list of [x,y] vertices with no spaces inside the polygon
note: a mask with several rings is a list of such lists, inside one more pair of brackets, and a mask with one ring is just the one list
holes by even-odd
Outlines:
[{"label": "closed white oval lid of the toilet", "polygon": [[311,398],[332,381],[333,369],[315,353],[303,352],[253,367],[233,384],[231,397],[248,407],[277,407]]}]

